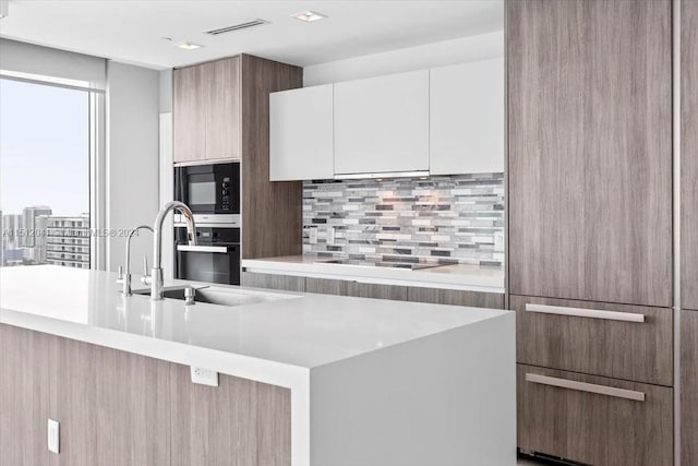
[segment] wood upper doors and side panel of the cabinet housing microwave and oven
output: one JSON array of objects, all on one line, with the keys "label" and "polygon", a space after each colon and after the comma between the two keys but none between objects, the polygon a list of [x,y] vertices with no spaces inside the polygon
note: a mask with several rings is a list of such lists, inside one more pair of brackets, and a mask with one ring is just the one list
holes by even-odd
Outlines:
[{"label": "wood upper doors and side panel of the cabinet housing microwave and oven", "polygon": [[173,72],[176,164],[241,160],[242,258],[301,253],[302,184],[269,181],[269,93],[303,69],[250,55]]}]

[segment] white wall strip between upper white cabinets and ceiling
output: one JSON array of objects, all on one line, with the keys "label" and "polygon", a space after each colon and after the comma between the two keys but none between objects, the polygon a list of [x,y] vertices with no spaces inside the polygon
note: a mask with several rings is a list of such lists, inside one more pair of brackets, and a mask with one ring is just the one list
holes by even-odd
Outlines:
[{"label": "white wall strip between upper white cabinets and ceiling", "polygon": [[303,85],[314,86],[495,57],[504,57],[504,32],[305,67]]}]

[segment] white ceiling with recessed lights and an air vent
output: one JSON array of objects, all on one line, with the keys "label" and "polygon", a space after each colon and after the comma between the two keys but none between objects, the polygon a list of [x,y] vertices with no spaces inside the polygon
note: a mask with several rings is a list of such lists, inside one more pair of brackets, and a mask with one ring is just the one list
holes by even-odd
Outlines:
[{"label": "white ceiling with recessed lights and an air vent", "polygon": [[[305,10],[328,17],[291,17]],[[241,52],[306,67],[502,31],[503,10],[503,0],[10,0],[0,36],[155,69]],[[254,19],[268,24],[203,33]],[[174,47],[182,41],[204,47]]]}]

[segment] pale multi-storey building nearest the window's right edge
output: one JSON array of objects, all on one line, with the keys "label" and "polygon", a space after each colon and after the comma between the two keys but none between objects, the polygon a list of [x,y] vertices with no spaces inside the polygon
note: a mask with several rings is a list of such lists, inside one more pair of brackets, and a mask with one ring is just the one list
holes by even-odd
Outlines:
[{"label": "pale multi-storey building nearest the window's right edge", "polygon": [[40,217],[46,228],[45,261],[49,264],[89,268],[89,215]]}]

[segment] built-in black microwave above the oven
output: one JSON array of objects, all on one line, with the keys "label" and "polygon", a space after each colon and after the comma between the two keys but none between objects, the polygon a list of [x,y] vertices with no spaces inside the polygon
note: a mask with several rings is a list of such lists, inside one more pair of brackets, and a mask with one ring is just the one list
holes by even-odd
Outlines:
[{"label": "built-in black microwave above the oven", "polygon": [[174,167],[174,200],[194,214],[239,214],[240,163]]}]

